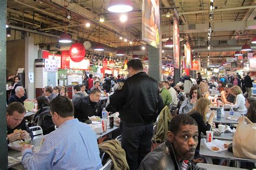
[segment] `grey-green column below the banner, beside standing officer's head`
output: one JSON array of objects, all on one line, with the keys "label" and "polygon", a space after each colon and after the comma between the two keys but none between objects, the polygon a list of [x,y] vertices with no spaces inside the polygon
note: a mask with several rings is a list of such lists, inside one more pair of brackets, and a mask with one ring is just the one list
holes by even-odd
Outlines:
[{"label": "grey-green column below the banner, beside standing officer's head", "polygon": [[147,45],[147,53],[149,54],[149,76],[160,81],[160,69],[162,67],[160,49]]}]

